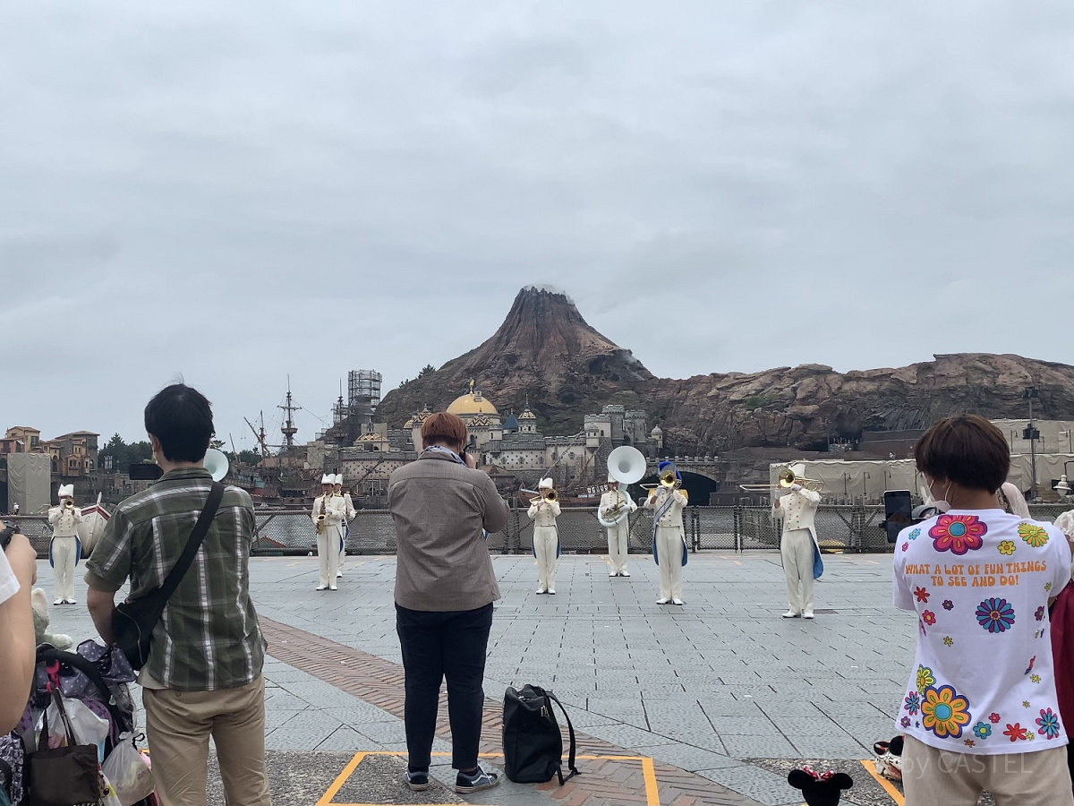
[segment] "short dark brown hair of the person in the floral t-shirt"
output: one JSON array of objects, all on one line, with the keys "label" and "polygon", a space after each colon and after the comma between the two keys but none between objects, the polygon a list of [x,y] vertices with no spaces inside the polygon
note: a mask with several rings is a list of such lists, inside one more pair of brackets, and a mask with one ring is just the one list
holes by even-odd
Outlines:
[{"label": "short dark brown hair of the person in the floral t-shirt", "polygon": [[1006,481],[1011,451],[1003,432],[984,417],[940,420],[914,446],[917,470],[971,490],[996,492]]}]

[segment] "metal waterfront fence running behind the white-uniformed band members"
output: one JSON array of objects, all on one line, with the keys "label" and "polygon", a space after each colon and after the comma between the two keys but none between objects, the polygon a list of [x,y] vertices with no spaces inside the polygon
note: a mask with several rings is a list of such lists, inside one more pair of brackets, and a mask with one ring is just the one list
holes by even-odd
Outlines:
[{"label": "metal waterfront fence running behind the white-uniformed band members", "polygon": [[[1032,504],[1037,520],[1053,521],[1071,508],[1068,504]],[[41,515],[8,518],[19,524],[38,551],[48,549],[52,528]],[[822,548],[842,551],[891,551],[882,522],[883,506],[827,506],[816,513],[817,538]],[[652,513],[639,509],[630,516],[630,551],[645,553],[652,547]],[[597,521],[596,508],[564,507],[556,521],[564,551],[603,553],[607,533]],[[694,551],[749,551],[774,549],[780,545],[779,523],[771,510],[754,506],[691,506],[683,512],[686,541]],[[525,509],[512,509],[507,528],[489,535],[495,553],[529,553],[533,521]],[[259,510],[257,514],[258,555],[297,555],[317,550],[317,533],[305,509]],[[352,555],[395,552],[395,524],[387,509],[360,509],[350,522],[347,551]]]}]

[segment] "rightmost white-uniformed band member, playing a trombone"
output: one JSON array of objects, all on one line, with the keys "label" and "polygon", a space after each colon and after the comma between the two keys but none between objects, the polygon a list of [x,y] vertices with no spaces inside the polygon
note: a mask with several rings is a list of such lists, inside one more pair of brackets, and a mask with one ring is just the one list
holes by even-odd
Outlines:
[{"label": "rightmost white-uniformed band member, playing a trombone", "polygon": [[821,493],[793,484],[782,493],[772,493],[772,517],[783,520],[780,557],[787,579],[788,609],[785,619],[813,618],[813,580],[824,573],[821,547],[816,542],[813,516],[821,503]]}]

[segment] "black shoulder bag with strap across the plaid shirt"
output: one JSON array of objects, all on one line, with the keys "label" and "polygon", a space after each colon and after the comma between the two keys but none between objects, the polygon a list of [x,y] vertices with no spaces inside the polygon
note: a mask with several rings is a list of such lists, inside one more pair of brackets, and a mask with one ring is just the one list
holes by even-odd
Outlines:
[{"label": "black shoulder bag with strap across the plaid shirt", "polygon": [[190,563],[194,561],[194,555],[198,553],[202,541],[205,539],[208,524],[213,522],[222,498],[223,485],[214,481],[213,489],[208,493],[208,501],[205,502],[205,508],[198,516],[194,531],[190,533],[190,539],[187,541],[187,547],[183,549],[183,555],[168,574],[164,584],[145,595],[116,605],[116,609],[112,614],[112,634],[116,639],[116,646],[127,656],[133,670],[142,668],[149,660],[153,631],[164,613],[164,605],[168,604],[169,598],[175,592],[179,580],[190,567]]}]

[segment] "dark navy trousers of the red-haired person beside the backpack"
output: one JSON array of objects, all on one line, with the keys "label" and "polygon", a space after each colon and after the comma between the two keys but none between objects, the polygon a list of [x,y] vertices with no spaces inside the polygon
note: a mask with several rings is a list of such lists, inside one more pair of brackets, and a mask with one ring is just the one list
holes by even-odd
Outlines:
[{"label": "dark navy trousers of the red-haired person beside the backpack", "polygon": [[436,734],[440,683],[448,680],[451,765],[477,766],[484,711],[484,656],[492,629],[492,603],[475,610],[410,610],[395,605],[395,631],[403,649],[406,747],[410,769],[427,769]]}]

